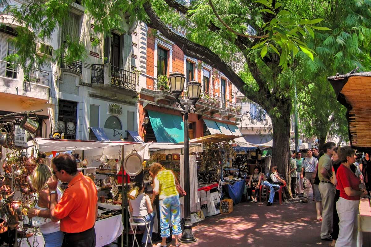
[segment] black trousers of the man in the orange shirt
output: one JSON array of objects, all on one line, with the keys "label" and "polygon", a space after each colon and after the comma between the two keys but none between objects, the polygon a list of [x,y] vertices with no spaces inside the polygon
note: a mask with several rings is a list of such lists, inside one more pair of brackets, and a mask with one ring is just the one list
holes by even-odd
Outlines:
[{"label": "black trousers of the man in the orange shirt", "polygon": [[64,233],[62,247],[95,247],[94,226],[81,233]]}]

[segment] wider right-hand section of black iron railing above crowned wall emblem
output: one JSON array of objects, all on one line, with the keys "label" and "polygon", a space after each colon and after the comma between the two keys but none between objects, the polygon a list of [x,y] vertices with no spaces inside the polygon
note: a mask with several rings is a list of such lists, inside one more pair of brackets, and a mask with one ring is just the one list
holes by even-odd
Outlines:
[{"label": "wider right-hand section of black iron railing above crowned wall emblem", "polygon": [[124,89],[137,90],[137,74],[111,66],[111,85]]}]

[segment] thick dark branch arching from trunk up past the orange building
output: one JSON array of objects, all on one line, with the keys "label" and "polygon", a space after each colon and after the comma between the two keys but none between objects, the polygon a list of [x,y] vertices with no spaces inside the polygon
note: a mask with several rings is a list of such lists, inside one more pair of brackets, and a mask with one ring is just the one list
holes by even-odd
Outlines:
[{"label": "thick dark branch arching from trunk up past the orange building", "polygon": [[157,16],[151,7],[150,1],[143,4],[144,10],[147,13],[150,21],[147,21],[147,26],[159,30],[167,39],[173,41],[185,55],[200,59],[210,66],[221,71],[233,83],[237,89],[242,92],[248,99],[257,102],[257,92],[252,87],[246,87],[244,81],[226,64],[220,57],[211,51],[209,48],[196,44],[184,37],[174,33],[169,29]]}]

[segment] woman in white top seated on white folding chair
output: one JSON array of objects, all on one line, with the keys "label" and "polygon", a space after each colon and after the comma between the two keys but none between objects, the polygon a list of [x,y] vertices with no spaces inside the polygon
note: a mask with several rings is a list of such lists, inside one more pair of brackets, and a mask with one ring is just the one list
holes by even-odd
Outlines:
[{"label": "woman in white top seated on white folding chair", "polygon": [[[152,230],[153,230],[153,222],[155,218],[155,213],[153,212],[151,199],[150,197],[144,193],[144,183],[135,183],[135,186],[139,188],[139,194],[135,200],[129,200],[129,208],[130,212],[132,213],[132,217],[134,218],[135,223],[143,223],[150,222],[150,236],[152,238]],[[141,230],[144,230],[144,234],[142,237],[142,246],[145,246],[145,241],[147,239],[147,228],[144,226],[139,226]],[[147,240],[147,246],[151,244],[150,238]]]}]

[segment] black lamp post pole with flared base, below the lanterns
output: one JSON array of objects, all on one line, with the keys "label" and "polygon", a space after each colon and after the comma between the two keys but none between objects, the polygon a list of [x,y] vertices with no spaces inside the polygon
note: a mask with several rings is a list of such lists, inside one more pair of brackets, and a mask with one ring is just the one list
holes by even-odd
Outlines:
[{"label": "black lamp post pole with flared base, below the lanterns", "polygon": [[188,101],[184,103],[184,230],[182,237],[179,241],[183,243],[196,242],[197,239],[194,237],[192,232],[191,223],[191,201],[190,201],[190,184],[189,184],[189,142],[188,142]]}]

